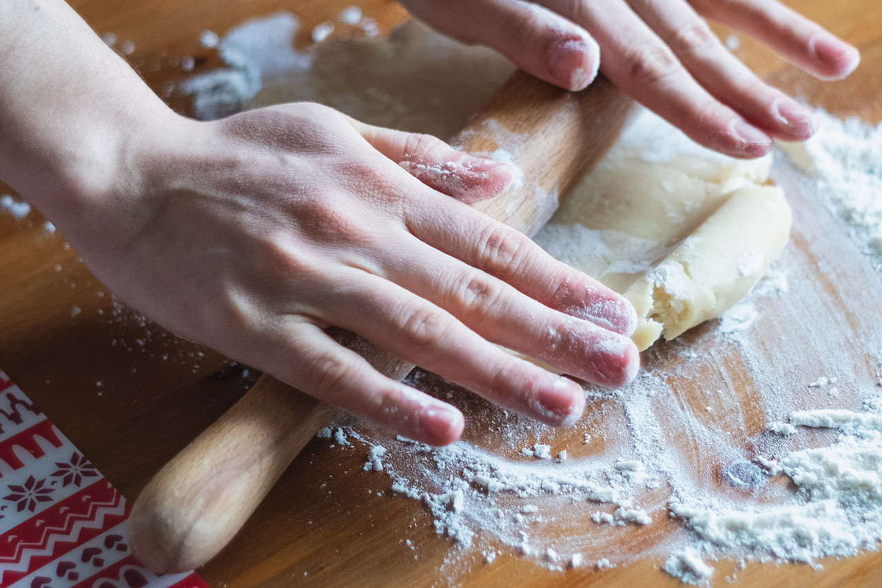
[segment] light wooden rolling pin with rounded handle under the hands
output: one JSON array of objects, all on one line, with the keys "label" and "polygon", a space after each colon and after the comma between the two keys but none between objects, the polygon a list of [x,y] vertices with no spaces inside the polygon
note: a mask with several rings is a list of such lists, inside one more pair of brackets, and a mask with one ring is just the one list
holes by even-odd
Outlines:
[{"label": "light wooden rolling pin with rounded handle under the hands", "polygon": [[[452,145],[472,154],[502,149],[522,182],[475,205],[529,236],[548,221],[558,194],[617,138],[630,99],[598,78],[572,94],[515,73]],[[413,365],[339,329],[333,333],[370,364],[401,380]],[[238,403],[157,473],[131,512],[131,547],[156,572],[198,568],[221,551],[308,441],[339,415],[264,375]]]}]

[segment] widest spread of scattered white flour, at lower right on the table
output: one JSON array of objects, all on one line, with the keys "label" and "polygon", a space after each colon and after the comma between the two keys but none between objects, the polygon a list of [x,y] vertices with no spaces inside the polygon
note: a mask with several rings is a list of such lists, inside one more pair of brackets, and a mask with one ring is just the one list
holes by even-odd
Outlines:
[{"label": "widest spread of scattered white flour, at lower right on the table", "polygon": [[[694,350],[726,344],[742,348],[748,361],[746,369],[763,387],[755,402],[762,403],[767,415],[779,415],[780,420],[770,418],[767,429],[754,437],[756,447],[769,453],[745,460],[740,444],[730,444],[719,431],[708,428],[706,418],[727,419],[728,430],[744,426],[732,420],[740,418],[737,410],[705,410],[720,402],[725,407],[725,398],[731,392],[716,389],[710,396],[715,401],[699,403],[700,414],[711,415],[701,418],[684,407],[682,397],[669,386],[669,375],[676,373],[676,367],[660,369],[647,362],[649,371],[641,373],[632,386],[611,393],[620,408],[603,412],[606,426],[597,428],[589,421],[586,427],[591,433],[570,435],[573,441],[565,446],[565,462],[550,459],[551,448],[558,449],[559,455],[561,446],[549,429],[485,407],[468,412],[490,418],[487,422],[492,423],[494,435],[501,437],[501,446],[492,444],[496,449],[490,450],[482,447],[488,441],[460,441],[448,448],[433,449],[410,441],[395,446],[384,443],[390,450],[384,466],[392,488],[423,501],[435,519],[436,531],[460,547],[477,542],[496,550],[500,544],[507,545],[549,569],[572,567],[572,558],[560,554],[579,554],[577,565],[587,557],[597,562],[595,569],[646,556],[623,557],[618,547],[622,536],[615,533],[654,525],[654,514],[665,512],[673,517],[671,520],[683,524],[689,534],[648,555],[662,556],[662,569],[684,583],[708,583],[714,572],[708,562],[718,558],[818,565],[818,560],[828,555],[846,556],[875,548],[882,541],[882,391],[875,381],[875,388],[859,390],[863,411],[823,405],[795,410],[806,406],[795,403],[795,399],[812,390],[830,402],[832,396],[827,390],[833,383],[848,390],[848,397],[853,398],[854,383],[850,378],[833,380],[834,376],[805,379],[802,384],[799,375],[782,379],[773,369],[778,362],[766,364],[764,356],[753,350],[751,340],[744,336],[748,328],[761,324],[757,310],[760,305],[787,304],[779,302],[785,294],[804,288],[796,276],[789,279],[773,268],[742,303],[747,310],[741,316],[750,319],[738,320],[739,328],[727,330],[721,321],[721,327],[688,347],[684,343],[667,344],[674,357],[688,357],[699,364],[706,361],[706,366],[715,365],[714,355],[706,358],[703,351]],[[868,341],[882,342],[880,327],[875,323],[868,327]],[[825,348],[827,357],[837,361],[841,356],[835,343],[830,345]],[[882,344],[878,349],[882,350]],[[818,369],[835,373],[841,364],[822,364]],[[451,388],[437,378],[432,385],[427,383],[431,380],[428,374],[412,378],[415,380],[409,382],[411,385],[436,396],[451,397]],[[593,398],[609,398],[610,392],[593,394],[588,390],[589,403]],[[454,395],[452,402],[457,400],[462,397]],[[623,420],[616,425],[618,418]],[[697,464],[684,462],[676,445],[666,441],[669,427],[688,431],[705,457]],[[828,429],[838,436],[830,437],[823,447],[799,449],[794,445],[788,450],[774,445],[781,442],[774,441],[781,440],[780,436],[765,433],[791,435],[801,427]],[[588,450],[598,437],[611,445],[599,453]],[[360,438],[369,447],[382,440],[383,433],[375,430]],[[621,448],[623,442],[627,449]],[[696,469],[709,464],[720,464],[723,483],[743,494],[699,484]],[[790,480],[796,493],[779,484],[771,485],[772,479]],[[462,496],[461,508],[456,512],[445,498],[451,492]],[[755,500],[756,494],[764,495],[765,500]],[[634,505],[638,501],[639,507]],[[599,505],[605,508],[598,510]],[[567,531],[562,535],[557,525],[570,520],[581,521],[582,528],[564,524]],[[549,557],[549,548],[557,557]],[[458,561],[456,553],[448,556],[451,565]]]}]

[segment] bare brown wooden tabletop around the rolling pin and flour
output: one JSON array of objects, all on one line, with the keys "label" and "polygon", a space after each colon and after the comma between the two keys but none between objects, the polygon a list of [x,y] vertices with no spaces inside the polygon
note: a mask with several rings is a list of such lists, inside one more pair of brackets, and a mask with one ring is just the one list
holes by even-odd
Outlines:
[{"label": "bare brown wooden tabletop around the rolling pin and flour", "polygon": [[[197,71],[217,63],[213,51],[198,46],[205,29],[223,33],[243,19],[288,9],[303,23],[297,41],[308,41],[313,26],[333,19],[348,1],[325,0],[76,0],[71,2],[98,32],[133,41],[131,62],[157,91],[187,75],[173,57],[194,56]],[[403,18],[383,0],[358,3],[382,30]],[[822,0],[793,1],[801,11],[855,43],[863,63],[855,75],[820,84],[770,57],[757,43],[738,50],[761,75],[837,115],[882,118],[882,4],[849,0],[835,8]],[[721,34],[726,34],[721,29]],[[176,103],[183,108],[183,102]],[[4,188],[0,187],[0,192]],[[818,237],[810,246],[818,208],[811,195],[795,199],[799,263],[811,265],[811,251],[837,246],[841,237]],[[820,213],[818,213],[820,214]],[[812,249],[813,247],[813,249]],[[871,284],[864,280],[863,290]],[[820,276],[819,276],[820,279]],[[861,291],[862,283],[851,283]],[[818,287],[837,287],[821,283]],[[843,288],[838,288],[840,293]],[[878,290],[876,290],[878,292]],[[843,296],[848,296],[848,292]],[[873,298],[873,297],[876,298]],[[878,321],[878,293],[847,298],[842,304],[863,320]],[[781,311],[782,313],[786,311]],[[781,324],[787,317],[781,318]],[[49,235],[39,215],[25,222],[0,215],[0,367],[129,498],[171,456],[218,418],[256,380],[257,373],[231,364],[213,351],[183,342],[145,325],[116,305],[108,291],[78,262],[60,235]],[[851,325],[850,328],[857,328]],[[848,330],[843,326],[842,329]],[[652,361],[662,361],[663,350]],[[247,373],[247,375],[246,375]],[[684,402],[694,390],[684,384]],[[761,425],[761,423],[760,423]],[[759,425],[757,425],[759,426]],[[217,586],[440,585],[436,570],[451,548],[435,535],[422,506],[405,498],[377,497],[388,479],[363,474],[363,455],[313,442],[258,509],[231,545],[200,573]],[[664,522],[662,522],[664,524]],[[399,538],[412,538],[415,552]],[[639,545],[632,546],[639,548]],[[659,558],[595,572],[550,573],[504,554],[492,566],[476,565],[459,577],[463,584],[511,585],[676,585],[658,571]],[[750,565],[739,572],[747,585],[882,585],[882,554],[824,562],[823,572],[807,566]],[[721,580],[734,563],[717,565]],[[305,575],[304,575],[305,574]]]}]

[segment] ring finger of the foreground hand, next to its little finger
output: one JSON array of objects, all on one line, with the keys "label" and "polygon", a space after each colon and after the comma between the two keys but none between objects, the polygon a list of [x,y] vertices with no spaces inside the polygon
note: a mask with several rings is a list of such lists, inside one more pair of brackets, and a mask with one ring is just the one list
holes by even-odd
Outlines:
[{"label": "ring finger of the foreground hand, next to its little finger", "polygon": [[[354,270],[355,272],[356,270]],[[377,275],[359,272],[329,316],[392,354],[552,426],[570,426],[585,408],[576,382],[515,358],[449,313]]]}]

